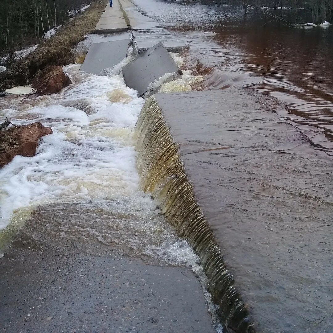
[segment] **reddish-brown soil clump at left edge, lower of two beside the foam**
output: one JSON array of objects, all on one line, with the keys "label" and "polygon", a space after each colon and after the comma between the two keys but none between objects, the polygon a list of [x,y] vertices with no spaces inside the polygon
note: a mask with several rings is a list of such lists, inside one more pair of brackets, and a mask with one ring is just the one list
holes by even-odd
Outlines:
[{"label": "reddish-brown soil clump at left edge, lower of two beside the foam", "polygon": [[0,168],[13,160],[16,155],[34,156],[39,139],[52,134],[50,127],[41,123],[12,126],[0,131]]}]

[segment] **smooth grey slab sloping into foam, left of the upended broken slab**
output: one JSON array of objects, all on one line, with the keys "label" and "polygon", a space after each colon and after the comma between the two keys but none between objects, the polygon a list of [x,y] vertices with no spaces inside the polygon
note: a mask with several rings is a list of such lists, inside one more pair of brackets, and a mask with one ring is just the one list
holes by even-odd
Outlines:
[{"label": "smooth grey slab sloping into foam, left of the upended broken slab", "polygon": [[91,44],[80,70],[99,75],[106,68],[119,64],[125,57],[130,39]]}]

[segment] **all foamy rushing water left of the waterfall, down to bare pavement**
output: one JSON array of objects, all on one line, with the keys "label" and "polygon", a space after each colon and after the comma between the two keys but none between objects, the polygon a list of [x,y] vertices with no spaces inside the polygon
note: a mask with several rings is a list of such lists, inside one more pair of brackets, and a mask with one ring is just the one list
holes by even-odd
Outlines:
[{"label": "all foamy rushing water left of the waterfall, down to bare pavement", "polygon": [[[172,57],[178,66],[182,64],[177,54]],[[177,238],[150,196],[139,189],[132,130],[145,100],[115,74],[129,60],[106,70],[105,76],[81,72],[79,64],[71,64],[64,71],[73,85],[61,93],[23,103],[13,96],[0,101],[1,121],[5,117],[14,124],[39,121],[53,130],[42,138],[34,157],[16,156],[0,170],[0,249],[38,206],[56,203],[61,211],[61,204],[73,204],[75,211],[74,204],[83,204],[90,215],[79,226],[61,219],[60,224],[50,221],[40,229],[64,241],[84,234],[85,242],[126,244],[131,255],[189,265],[199,276],[214,316],[198,257]],[[186,86],[189,90],[190,80],[188,72],[162,88],[184,91]],[[70,208],[66,209],[68,214]]]}]

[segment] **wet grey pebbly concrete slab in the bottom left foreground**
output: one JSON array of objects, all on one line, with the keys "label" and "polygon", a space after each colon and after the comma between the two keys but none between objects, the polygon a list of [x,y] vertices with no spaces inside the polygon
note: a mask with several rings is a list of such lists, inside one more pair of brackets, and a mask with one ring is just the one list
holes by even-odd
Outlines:
[{"label": "wet grey pebbly concrete slab in the bottom left foreground", "polygon": [[[56,224],[64,216],[86,230],[81,209],[84,205],[43,207],[0,259],[2,333],[216,333],[189,269],[110,253],[113,241],[90,243],[75,232],[62,237]],[[87,220],[97,215],[91,212]],[[104,230],[112,224],[110,216]],[[98,248],[98,254],[89,254]]]}]

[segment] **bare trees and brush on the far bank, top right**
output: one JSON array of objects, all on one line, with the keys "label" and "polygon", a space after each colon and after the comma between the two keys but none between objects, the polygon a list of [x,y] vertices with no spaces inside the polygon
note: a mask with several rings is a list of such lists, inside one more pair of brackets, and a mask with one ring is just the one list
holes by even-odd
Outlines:
[{"label": "bare trees and brush on the far bank, top right", "polygon": [[[329,21],[333,16],[333,0],[201,0],[202,4],[227,6],[232,10],[256,11],[270,18],[304,20],[310,13],[312,22]],[[300,9],[302,9],[300,11]]]}]

